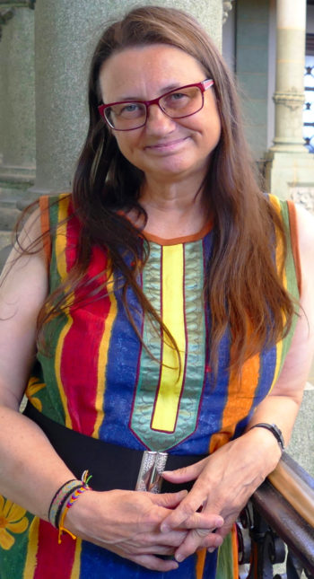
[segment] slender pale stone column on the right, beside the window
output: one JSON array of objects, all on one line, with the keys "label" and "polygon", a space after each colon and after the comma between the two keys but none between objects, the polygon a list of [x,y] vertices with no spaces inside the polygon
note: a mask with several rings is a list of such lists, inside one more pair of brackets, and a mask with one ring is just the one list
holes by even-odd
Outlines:
[{"label": "slender pale stone column on the right, beside the window", "polygon": [[266,154],[269,189],[292,197],[314,186],[314,159],[304,146],[304,55],[306,0],[277,0],[275,139]]}]

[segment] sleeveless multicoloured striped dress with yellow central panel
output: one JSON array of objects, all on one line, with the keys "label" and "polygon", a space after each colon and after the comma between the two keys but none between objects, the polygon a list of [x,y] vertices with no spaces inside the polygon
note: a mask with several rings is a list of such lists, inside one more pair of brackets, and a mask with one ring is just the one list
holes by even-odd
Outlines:
[{"label": "sleeveless multicoloured striped dress with yellow central panel", "polygon": [[[295,208],[292,202],[274,196],[270,201],[287,230],[284,284],[298,298]],[[43,232],[48,231],[48,224],[58,225],[52,240],[45,238],[47,247],[51,242],[48,268],[53,291],[74,265],[80,224],[73,215],[70,195],[42,197],[40,207]],[[48,323],[49,353],[38,354],[26,390],[31,403],[75,431],[140,451],[202,454],[214,452],[242,434],[254,409],[276,382],[295,320],[286,338],[244,364],[240,379],[229,370],[231,339],[227,330],[214,383],[208,363],[211,316],[202,299],[213,235],[208,227],[185,239],[162,241],[147,236],[150,257],[140,281],[177,341],[180,372],[167,339],[142,315],[128,289],[136,327],[162,364],[141,345],[124,311],[121,280],[114,274],[109,294],[102,293],[97,300],[84,299],[82,292],[72,294],[65,313]],[[281,247],[277,242],[274,259],[279,268]],[[97,276],[90,284],[96,294],[108,281],[107,267],[107,254],[94,247],[86,281]],[[204,549],[188,557],[176,571],[149,571],[68,535],[58,545],[57,530],[48,522],[0,496],[0,579],[235,579],[237,555],[232,533],[218,552],[208,554]]]}]

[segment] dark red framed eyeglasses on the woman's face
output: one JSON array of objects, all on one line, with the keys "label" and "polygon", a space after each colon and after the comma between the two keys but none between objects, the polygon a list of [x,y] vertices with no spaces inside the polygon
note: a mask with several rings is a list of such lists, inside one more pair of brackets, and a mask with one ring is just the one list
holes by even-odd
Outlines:
[{"label": "dark red framed eyeglasses on the woman's face", "polygon": [[148,107],[158,105],[170,118],[185,118],[203,109],[204,92],[213,86],[214,81],[207,79],[202,83],[187,84],[174,91],[161,94],[152,101],[120,101],[101,104],[98,107],[109,127],[116,131],[133,131],[144,127],[148,118]]}]

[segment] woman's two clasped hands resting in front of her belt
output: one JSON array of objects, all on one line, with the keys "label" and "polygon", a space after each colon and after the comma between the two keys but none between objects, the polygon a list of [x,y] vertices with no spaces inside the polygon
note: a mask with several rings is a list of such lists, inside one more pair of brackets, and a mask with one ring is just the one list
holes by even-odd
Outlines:
[{"label": "woman's two clasped hands resting in front of her belt", "polygon": [[141,566],[162,572],[176,569],[200,548],[212,551],[222,544],[249,496],[265,478],[268,466],[262,459],[266,454],[259,457],[258,464],[257,452],[252,460],[252,452],[247,452],[251,448],[243,440],[249,442],[253,437],[242,436],[242,441],[222,446],[203,461],[163,473],[172,483],[195,480],[189,493],[84,493],[69,511],[68,528]]}]

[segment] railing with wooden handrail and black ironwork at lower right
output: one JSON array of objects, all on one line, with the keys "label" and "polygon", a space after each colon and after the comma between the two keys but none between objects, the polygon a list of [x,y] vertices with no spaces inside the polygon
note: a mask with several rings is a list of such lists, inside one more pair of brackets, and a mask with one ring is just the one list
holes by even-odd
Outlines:
[{"label": "railing with wooden handrail and black ironwork at lower right", "polygon": [[[283,452],[269,480],[257,488],[237,524],[240,579],[314,579],[314,478]],[[286,558],[286,573],[273,566]],[[304,575],[303,575],[304,574]]]}]

